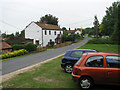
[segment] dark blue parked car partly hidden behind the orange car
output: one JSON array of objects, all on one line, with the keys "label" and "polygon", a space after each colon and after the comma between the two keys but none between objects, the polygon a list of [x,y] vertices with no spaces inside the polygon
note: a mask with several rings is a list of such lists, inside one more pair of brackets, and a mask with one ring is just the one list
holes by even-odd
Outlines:
[{"label": "dark blue parked car partly hidden behind the orange car", "polygon": [[90,49],[69,50],[62,58],[61,67],[65,70],[65,72],[72,73],[74,64],[82,57],[82,54],[86,52],[97,51]]}]

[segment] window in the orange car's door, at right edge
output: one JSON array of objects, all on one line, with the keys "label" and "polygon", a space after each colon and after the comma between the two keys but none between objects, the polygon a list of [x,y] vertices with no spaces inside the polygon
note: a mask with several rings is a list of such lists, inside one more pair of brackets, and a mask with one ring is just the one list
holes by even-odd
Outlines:
[{"label": "window in the orange car's door, at right edge", "polygon": [[109,68],[120,68],[120,57],[119,56],[106,56],[107,67]]}]

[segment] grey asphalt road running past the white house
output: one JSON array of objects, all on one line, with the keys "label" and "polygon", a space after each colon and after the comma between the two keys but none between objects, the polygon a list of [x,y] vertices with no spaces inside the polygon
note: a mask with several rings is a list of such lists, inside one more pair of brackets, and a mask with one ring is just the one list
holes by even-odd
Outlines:
[{"label": "grey asphalt road running past the white house", "polygon": [[15,58],[12,60],[4,61],[2,62],[2,75],[14,72],[16,70],[25,68],[27,66],[34,65],[36,63],[42,62],[44,60],[56,57],[60,54],[65,53],[67,50],[75,49],[77,47],[80,47],[88,42],[90,38],[85,37],[85,39],[82,42],[74,43],[69,46],[57,48],[57,49],[49,49],[44,52],[40,52],[33,55],[28,55],[20,58]]}]

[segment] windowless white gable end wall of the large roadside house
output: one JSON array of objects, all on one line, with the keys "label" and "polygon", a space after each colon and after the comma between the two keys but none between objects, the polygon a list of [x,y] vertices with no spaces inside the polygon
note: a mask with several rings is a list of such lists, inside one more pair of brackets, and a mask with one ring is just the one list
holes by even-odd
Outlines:
[{"label": "windowless white gable end wall of the large roadside house", "polygon": [[25,38],[26,39],[34,39],[34,44],[36,40],[39,40],[39,44],[42,44],[42,28],[32,22],[25,29]]}]

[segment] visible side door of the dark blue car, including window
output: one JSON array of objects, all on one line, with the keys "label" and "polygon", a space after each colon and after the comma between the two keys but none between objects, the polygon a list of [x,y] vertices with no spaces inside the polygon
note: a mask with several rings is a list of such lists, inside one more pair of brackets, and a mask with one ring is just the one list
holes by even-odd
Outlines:
[{"label": "visible side door of the dark blue car, including window", "polygon": [[80,57],[82,57],[82,51],[72,51],[69,55],[69,61],[74,65]]}]

